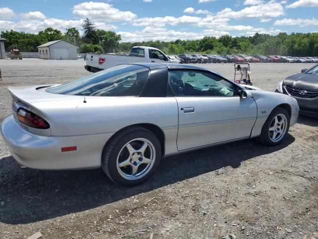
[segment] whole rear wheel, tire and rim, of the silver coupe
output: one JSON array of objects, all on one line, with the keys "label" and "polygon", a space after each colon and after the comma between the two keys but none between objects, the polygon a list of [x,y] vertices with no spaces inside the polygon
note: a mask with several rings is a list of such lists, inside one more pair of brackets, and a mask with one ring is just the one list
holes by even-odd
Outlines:
[{"label": "whole rear wheel, tire and rim, of the silver coupe", "polygon": [[102,168],[115,183],[137,185],[148,179],[161,159],[161,145],[150,130],[135,126],[119,132],[106,144]]}]

